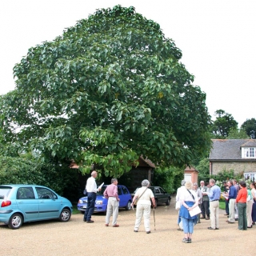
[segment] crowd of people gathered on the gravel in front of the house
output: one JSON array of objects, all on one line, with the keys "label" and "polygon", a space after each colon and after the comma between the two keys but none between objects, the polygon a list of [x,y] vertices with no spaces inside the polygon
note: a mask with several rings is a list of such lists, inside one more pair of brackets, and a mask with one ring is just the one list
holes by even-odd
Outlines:
[{"label": "crowd of people gathered on the gravel in front of the house", "polygon": [[[227,223],[234,223],[238,220],[238,230],[247,230],[256,222],[256,184],[250,183],[250,189],[246,189],[246,182],[241,181],[237,184],[236,180],[227,182],[228,190],[224,192],[228,202]],[[219,199],[221,189],[215,184],[214,179],[210,179],[209,186],[205,186],[203,181],[200,187],[197,183],[182,180],[182,186],[178,188],[176,194],[176,205],[180,204],[178,212],[178,230],[184,232],[182,242],[190,243],[194,232],[194,225],[200,223],[201,218],[210,219],[208,230],[219,230]],[[192,215],[191,210],[199,206],[201,213]],[[238,214],[235,218],[235,211]],[[202,214],[202,217],[200,216]]]}]

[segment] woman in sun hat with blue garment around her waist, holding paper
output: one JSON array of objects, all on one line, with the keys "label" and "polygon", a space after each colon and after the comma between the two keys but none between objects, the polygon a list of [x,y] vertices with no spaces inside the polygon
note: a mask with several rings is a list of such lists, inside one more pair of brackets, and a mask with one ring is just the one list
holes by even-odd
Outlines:
[{"label": "woman in sun hat with blue garment around her waist, holding paper", "polygon": [[192,182],[185,183],[186,190],[182,190],[182,206],[179,215],[182,218],[184,238],[182,242],[190,243],[194,232],[194,225],[197,223],[197,215],[190,216],[190,210],[198,206],[198,195],[192,190]]}]

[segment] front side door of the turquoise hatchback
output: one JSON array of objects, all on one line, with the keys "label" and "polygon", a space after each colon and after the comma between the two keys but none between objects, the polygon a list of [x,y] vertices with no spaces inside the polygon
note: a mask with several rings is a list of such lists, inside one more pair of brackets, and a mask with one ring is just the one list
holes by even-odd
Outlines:
[{"label": "front side door of the turquoise hatchback", "polygon": [[61,202],[53,191],[45,187],[35,187],[38,194],[39,215],[40,219],[58,218]]}]

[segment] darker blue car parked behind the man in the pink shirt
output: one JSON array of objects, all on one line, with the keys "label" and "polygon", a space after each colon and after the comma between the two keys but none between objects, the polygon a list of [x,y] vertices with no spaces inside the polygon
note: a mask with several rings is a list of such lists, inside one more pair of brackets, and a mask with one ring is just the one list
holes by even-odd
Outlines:
[{"label": "darker blue car parked behind the man in the pink shirt", "polygon": [[[94,205],[94,212],[105,212],[107,207],[107,199],[104,198],[103,193],[106,190],[106,185],[102,186],[102,190],[97,192],[97,197]],[[131,195],[129,190],[127,190],[126,186],[118,185],[118,197],[119,208],[126,208],[126,210],[130,210],[131,204]],[[87,206],[87,197],[80,198],[78,201],[78,210],[80,210],[81,214],[84,214]]]}]

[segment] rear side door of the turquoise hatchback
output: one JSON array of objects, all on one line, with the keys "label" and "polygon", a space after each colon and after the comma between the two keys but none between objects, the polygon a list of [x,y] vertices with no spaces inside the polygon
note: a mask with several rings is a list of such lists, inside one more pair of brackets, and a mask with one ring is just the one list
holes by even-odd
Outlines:
[{"label": "rear side door of the turquoise hatchback", "polygon": [[38,219],[38,199],[34,196],[32,186],[19,187],[16,194],[18,209],[24,214],[24,222]]}]

